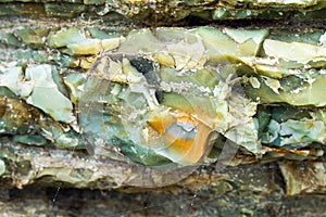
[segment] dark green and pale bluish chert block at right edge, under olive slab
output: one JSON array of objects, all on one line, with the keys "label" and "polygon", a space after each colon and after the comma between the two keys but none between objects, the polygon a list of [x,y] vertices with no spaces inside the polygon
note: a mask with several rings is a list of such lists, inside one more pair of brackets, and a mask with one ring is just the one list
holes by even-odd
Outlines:
[{"label": "dark green and pale bluish chert block at right edge, under olive slab", "polygon": [[323,108],[269,106],[259,113],[260,138],[264,145],[301,149],[326,141]]}]

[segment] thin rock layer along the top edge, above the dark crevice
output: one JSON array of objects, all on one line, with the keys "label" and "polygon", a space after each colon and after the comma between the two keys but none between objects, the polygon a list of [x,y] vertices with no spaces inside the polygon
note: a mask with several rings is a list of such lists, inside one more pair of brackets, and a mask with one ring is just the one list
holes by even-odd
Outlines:
[{"label": "thin rock layer along the top edge, above the dark crevice", "polygon": [[[121,14],[146,23],[173,24],[189,16],[205,21],[271,18],[323,20],[324,0],[15,0],[1,1],[1,15],[45,17],[109,16]],[[114,15],[113,15],[114,17]]]}]

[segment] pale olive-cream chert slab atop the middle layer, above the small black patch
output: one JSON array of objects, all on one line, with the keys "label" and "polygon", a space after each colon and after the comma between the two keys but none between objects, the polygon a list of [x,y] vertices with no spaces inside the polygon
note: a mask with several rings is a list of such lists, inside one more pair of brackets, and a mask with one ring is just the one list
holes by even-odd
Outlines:
[{"label": "pale olive-cream chert slab atop the middle layer, above the small black patch", "polygon": [[[266,29],[220,30],[200,27],[189,31],[178,28],[159,28],[153,35],[149,29],[141,29],[131,31],[122,42],[118,51],[130,54],[139,51],[155,53],[155,59],[164,65],[174,65],[177,69],[191,68],[204,65],[206,59],[218,61],[228,56],[233,59],[254,56],[267,34]],[[134,44],[134,41],[139,42]],[[173,44],[170,44],[171,41]],[[189,53],[195,54],[189,55]]]}]

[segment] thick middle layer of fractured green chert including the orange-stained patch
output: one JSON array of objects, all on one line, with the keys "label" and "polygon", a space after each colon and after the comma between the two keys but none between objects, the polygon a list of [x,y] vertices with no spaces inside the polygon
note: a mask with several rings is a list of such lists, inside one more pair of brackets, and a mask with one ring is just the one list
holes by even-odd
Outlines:
[{"label": "thick middle layer of fractured green chert including the orange-stained patch", "polygon": [[[23,34],[30,31],[39,34]],[[155,166],[216,161],[205,157],[206,149],[222,137],[258,157],[324,154],[324,31],[298,37],[199,27],[110,35],[71,27],[2,35],[7,46],[21,47],[0,75],[1,133],[15,142],[85,149],[86,141],[101,158]],[[20,58],[37,44],[50,52]],[[29,174],[23,184],[39,175],[49,174]]]}]

